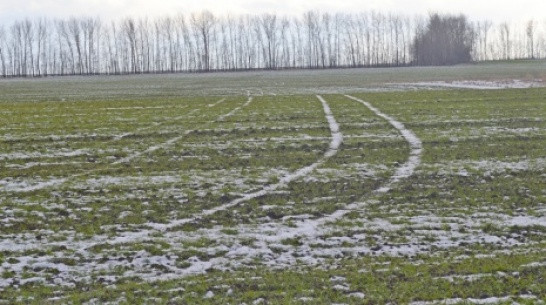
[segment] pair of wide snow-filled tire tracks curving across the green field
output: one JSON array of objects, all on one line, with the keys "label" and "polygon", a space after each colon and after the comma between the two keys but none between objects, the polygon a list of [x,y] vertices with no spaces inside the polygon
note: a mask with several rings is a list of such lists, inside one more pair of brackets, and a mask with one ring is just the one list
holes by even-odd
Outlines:
[{"label": "pair of wide snow-filled tire tracks curving across the green field", "polygon": [[[382,187],[374,191],[375,194],[384,193],[388,191],[395,183],[399,182],[402,179],[410,177],[414,173],[416,167],[421,162],[421,154],[423,151],[422,142],[412,131],[405,128],[402,123],[384,114],[377,108],[373,107],[371,104],[353,96],[346,95],[346,97],[363,104],[372,112],[374,112],[377,116],[387,120],[394,128],[399,130],[399,132],[402,134],[404,139],[410,144],[411,152],[410,152],[410,156],[408,160],[396,170],[394,175],[389,179],[389,181],[385,185],[383,185]],[[328,103],[321,96],[317,95],[317,98],[322,103],[322,106],[324,108],[325,117],[328,121],[330,131],[331,131],[331,142],[330,142],[329,149],[315,163],[282,177],[277,184],[266,186],[260,191],[247,194],[225,205],[221,205],[214,209],[203,211],[200,214],[195,215],[194,217],[190,219],[175,220],[168,224],[147,224],[150,227],[150,229],[148,230],[141,230],[138,232],[124,232],[122,233],[121,236],[117,236],[114,239],[107,239],[106,236],[102,236],[102,237],[95,238],[91,242],[89,241],[75,242],[75,243],[72,243],[70,248],[77,251],[83,251],[83,253],[86,253],[90,247],[97,244],[107,243],[107,244],[113,245],[113,244],[121,244],[121,243],[133,243],[133,242],[141,241],[143,239],[148,239],[151,237],[153,233],[157,233],[159,231],[164,231],[184,223],[195,221],[196,219],[199,219],[200,217],[212,215],[221,210],[227,210],[245,201],[263,196],[271,191],[274,191],[286,185],[287,183],[295,179],[301,178],[309,174],[310,172],[315,170],[317,167],[322,165],[326,160],[336,155],[340,145],[343,142],[343,135],[339,130],[339,126],[330,110]],[[269,257],[268,264],[270,265],[276,264],[277,262],[282,263],[283,259],[286,259],[287,257],[291,257],[290,253],[294,252],[296,249],[294,248],[289,250],[288,252],[284,252],[283,255],[276,255],[271,250],[271,247],[274,244],[278,244],[280,241],[286,238],[301,236],[301,237],[304,237],[302,239],[302,242],[304,242],[303,247],[308,248],[309,249],[308,251],[311,251],[309,254],[315,253],[313,251],[320,252],[321,249],[316,249],[316,250],[311,249],[309,247],[309,243],[312,242],[314,238],[316,238],[317,236],[320,236],[321,234],[324,234],[328,231],[328,228],[325,227],[324,225],[326,225],[328,222],[335,221],[345,216],[348,212],[352,210],[361,209],[366,204],[367,204],[366,202],[351,203],[347,205],[344,209],[337,210],[333,214],[328,215],[326,217],[314,219],[314,220],[306,220],[300,223],[295,228],[287,227],[281,223],[260,225],[258,228],[246,227],[246,229],[244,229],[241,227],[241,229],[243,230],[240,231],[240,234],[236,237],[236,239],[242,240],[244,238],[249,238],[249,237],[256,239],[257,247],[252,248],[251,249],[252,253],[249,253],[248,256],[246,256],[244,259],[249,259],[252,257],[258,258],[261,255],[265,255],[266,257]],[[272,232],[273,234],[269,235]],[[176,238],[180,238],[179,234],[180,234],[179,232],[168,232],[165,234],[164,238],[167,240],[170,240],[170,239],[175,240]],[[215,238],[223,238],[223,236],[220,234],[220,231],[218,229],[212,229],[212,230],[204,229],[198,234],[203,236],[208,236],[208,237],[214,236]],[[176,268],[171,269],[170,268],[169,272],[159,276],[149,277],[142,274],[141,278],[146,281],[157,281],[157,280],[180,278],[190,274],[203,273],[208,268],[216,267],[216,266],[226,266],[226,265],[230,265],[233,261],[235,262],[238,261],[239,259],[238,256],[241,254],[240,250],[241,250],[240,247],[238,247],[237,245],[234,245],[234,247],[231,247],[231,249],[229,249],[228,253],[222,255],[221,257],[212,258],[209,261],[192,262],[191,266],[186,269],[176,269]],[[290,261],[290,262],[297,263],[297,261]],[[104,266],[96,265],[93,260],[88,265],[84,264],[78,267],[80,267],[79,269],[81,270],[87,269],[87,267],[92,267],[96,270],[99,270],[100,268],[106,268],[106,267],[110,268],[110,266],[106,266],[106,265]],[[72,270],[72,271],[77,271],[77,273],[79,273],[81,270]],[[72,278],[72,275],[71,275],[72,272],[69,272],[69,273],[61,272],[63,276]]]}]

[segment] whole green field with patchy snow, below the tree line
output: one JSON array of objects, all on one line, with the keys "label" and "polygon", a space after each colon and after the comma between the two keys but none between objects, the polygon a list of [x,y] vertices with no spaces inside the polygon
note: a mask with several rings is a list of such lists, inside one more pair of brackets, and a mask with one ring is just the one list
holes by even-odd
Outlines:
[{"label": "whole green field with patchy snow, below the tree line", "polygon": [[0,80],[0,304],[545,303],[545,80]]}]

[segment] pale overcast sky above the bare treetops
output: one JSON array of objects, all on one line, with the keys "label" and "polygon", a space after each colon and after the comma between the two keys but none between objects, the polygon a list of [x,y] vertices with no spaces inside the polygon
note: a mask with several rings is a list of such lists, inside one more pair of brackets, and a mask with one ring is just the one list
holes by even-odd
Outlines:
[{"label": "pale overcast sky above the bare treetops", "polygon": [[361,12],[377,10],[408,15],[465,13],[495,22],[536,19],[546,22],[546,0],[0,0],[0,23],[25,17],[157,16],[210,10],[215,14],[299,15],[308,10]]}]

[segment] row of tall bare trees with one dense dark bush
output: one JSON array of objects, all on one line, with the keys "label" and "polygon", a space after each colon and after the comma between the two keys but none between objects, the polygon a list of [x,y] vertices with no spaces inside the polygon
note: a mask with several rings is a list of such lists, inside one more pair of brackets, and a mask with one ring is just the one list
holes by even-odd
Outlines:
[{"label": "row of tall bare trees with one dense dark bush", "polygon": [[[380,12],[24,19],[0,25],[0,74],[442,65],[546,57],[546,22]],[[456,60],[453,60],[456,58]]]}]

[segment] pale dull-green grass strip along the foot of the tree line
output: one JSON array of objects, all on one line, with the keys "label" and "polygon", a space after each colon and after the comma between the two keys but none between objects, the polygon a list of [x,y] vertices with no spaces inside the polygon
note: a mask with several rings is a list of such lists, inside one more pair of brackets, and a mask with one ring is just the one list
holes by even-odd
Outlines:
[{"label": "pale dull-green grass strip along the foot of the tree line", "polygon": [[0,101],[176,101],[214,95],[326,94],[376,91],[389,83],[458,80],[546,79],[546,61],[478,63],[452,67],[327,69],[46,77],[1,82]]}]

